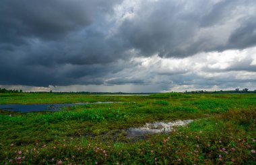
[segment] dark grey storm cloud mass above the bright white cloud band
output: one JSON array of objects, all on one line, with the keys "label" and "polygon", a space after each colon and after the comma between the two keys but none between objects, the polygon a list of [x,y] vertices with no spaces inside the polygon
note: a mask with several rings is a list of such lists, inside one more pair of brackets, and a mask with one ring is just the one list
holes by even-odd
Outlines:
[{"label": "dark grey storm cloud mass above the bright white cloud band", "polygon": [[[197,77],[186,69],[133,76],[141,63],[131,59],[256,45],[254,0],[123,2],[1,0],[0,84],[150,84],[162,74],[168,88]],[[255,71],[248,63],[236,71]]]}]

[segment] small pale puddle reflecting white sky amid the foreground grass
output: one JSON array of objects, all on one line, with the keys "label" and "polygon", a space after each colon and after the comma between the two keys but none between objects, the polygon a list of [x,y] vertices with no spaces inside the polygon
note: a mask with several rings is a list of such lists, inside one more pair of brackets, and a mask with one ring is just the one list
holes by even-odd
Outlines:
[{"label": "small pale puddle reflecting white sky amid the foreground grass", "polygon": [[168,133],[177,126],[184,126],[191,123],[193,120],[185,120],[185,121],[173,121],[173,122],[154,122],[154,123],[146,123],[144,127],[138,128],[129,128],[127,130],[127,137],[139,137],[145,135],[147,133]]}]

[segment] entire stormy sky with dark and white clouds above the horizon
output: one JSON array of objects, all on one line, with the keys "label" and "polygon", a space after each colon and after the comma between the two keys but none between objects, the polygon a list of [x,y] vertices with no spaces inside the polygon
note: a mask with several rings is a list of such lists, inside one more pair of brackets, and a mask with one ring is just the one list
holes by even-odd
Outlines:
[{"label": "entire stormy sky with dark and white clouds above the horizon", "polygon": [[1,0],[0,88],[256,90],[255,0]]}]

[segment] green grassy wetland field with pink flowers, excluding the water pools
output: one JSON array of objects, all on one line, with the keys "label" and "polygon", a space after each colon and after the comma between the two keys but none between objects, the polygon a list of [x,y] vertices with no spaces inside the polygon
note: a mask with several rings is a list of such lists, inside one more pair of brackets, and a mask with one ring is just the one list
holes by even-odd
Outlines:
[{"label": "green grassy wetland field with pink flowers, excluding the water pools", "polygon": [[[256,94],[0,94],[0,104],[117,102],[0,110],[0,164],[255,164]],[[154,121],[193,120],[128,137]]]}]

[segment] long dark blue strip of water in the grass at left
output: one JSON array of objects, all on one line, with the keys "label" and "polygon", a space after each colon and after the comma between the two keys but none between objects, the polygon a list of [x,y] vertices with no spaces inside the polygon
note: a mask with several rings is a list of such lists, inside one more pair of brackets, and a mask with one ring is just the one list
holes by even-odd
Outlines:
[{"label": "long dark blue strip of water in the grass at left", "polygon": [[35,112],[35,111],[57,111],[62,107],[86,105],[86,104],[112,104],[120,102],[78,102],[71,104],[0,104],[1,110],[11,110],[16,112]]}]

